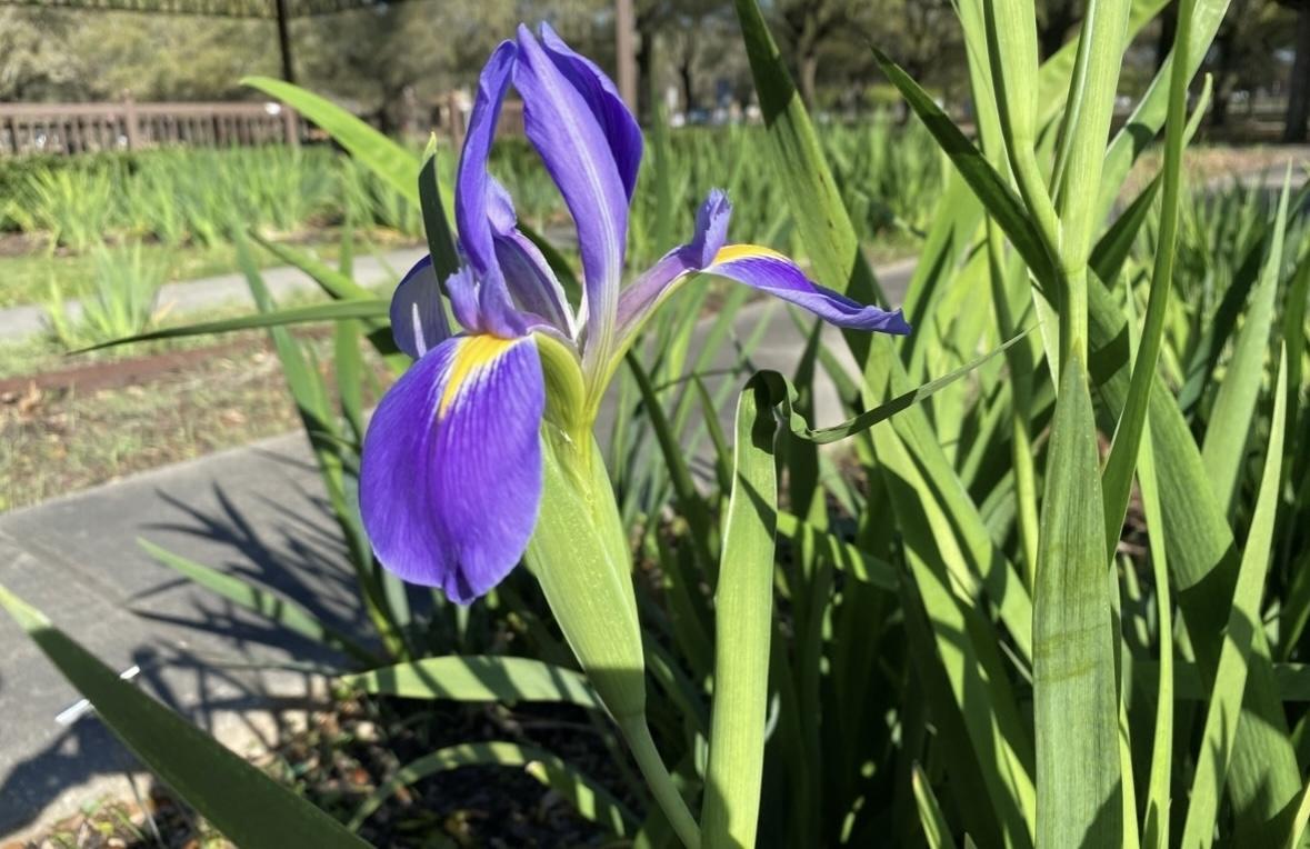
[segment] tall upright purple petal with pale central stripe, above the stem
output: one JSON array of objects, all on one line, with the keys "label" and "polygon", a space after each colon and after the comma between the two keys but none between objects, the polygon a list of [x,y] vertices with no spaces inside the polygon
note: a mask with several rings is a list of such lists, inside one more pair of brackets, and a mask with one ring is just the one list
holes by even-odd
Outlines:
[{"label": "tall upright purple petal with pale central stripe, above the stem", "polygon": [[587,350],[608,358],[627,241],[627,193],[600,122],[572,81],[525,26],[519,28],[514,84],[523,96],[524,131],[559,186],[578,227]]}]

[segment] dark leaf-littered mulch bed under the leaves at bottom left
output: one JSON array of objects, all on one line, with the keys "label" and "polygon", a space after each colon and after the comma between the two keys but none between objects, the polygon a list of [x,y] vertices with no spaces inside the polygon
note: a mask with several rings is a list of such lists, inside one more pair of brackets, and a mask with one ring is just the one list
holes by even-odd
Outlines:
[{"label": "dark leaf-littered mulch bed under the leaves at bottom left", "polygon": [[[607,787],[622,787],[601,731],[586,711],[566,706],[458,705],[368,698],[343,693],[308,727],[252,759],[341,821],[410,763],[440,748],[500,743],[541,748]],[[377,846],[599,846],[613,837],[533,777],[538,766],[473,765],[403,782],[376,801],[358,833]],[[144,806],[98,799],[39,836],[4,849],[221,849],[232,846],[166,786],[151,781]],[[621,799],[634,806],[630,794]],[[373,807],[371,803],[369,807]]]}]

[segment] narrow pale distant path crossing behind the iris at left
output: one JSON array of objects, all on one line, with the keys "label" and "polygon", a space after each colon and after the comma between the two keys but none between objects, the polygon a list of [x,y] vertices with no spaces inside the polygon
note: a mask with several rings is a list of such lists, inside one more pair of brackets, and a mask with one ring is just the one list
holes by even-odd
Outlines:
[{"label": "narrow pale distant path crossing behind the iris at left", "polygon": [[[355,257],[354,278],[364,286],[375,286],[388,280],[398,280],[427,252],[422,248],[403,248],[381,254],[360,254]],[[320,291],[308,274],[293,266],[263,269],[259,273],[274,297],[286,297],[304,292]],[[168,283],[160,288],[159,307],[170,313],[202,313],[214,307],[225,305],[254,307],[250,300],[250,287],[244,274],[220,274],[199,280]],[[81,304],[71,300],[64,303],[71,317],[81,312]],[[34,304],[0,309],[0,342],[18,342],[35,335],[46,328],[46,308]]]}]

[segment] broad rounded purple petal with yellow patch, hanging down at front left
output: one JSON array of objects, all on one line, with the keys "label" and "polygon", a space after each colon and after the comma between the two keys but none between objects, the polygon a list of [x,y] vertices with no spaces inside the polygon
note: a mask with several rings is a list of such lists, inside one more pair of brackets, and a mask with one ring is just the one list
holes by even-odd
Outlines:
[{"label": "broad rounded purple petal with yellow patch, hanging down at front left", "polygon": [[360,512],[377,559],[468,604],[519,562],[537,523],[545,387],[531,337],[443,342],[383,397]]}]

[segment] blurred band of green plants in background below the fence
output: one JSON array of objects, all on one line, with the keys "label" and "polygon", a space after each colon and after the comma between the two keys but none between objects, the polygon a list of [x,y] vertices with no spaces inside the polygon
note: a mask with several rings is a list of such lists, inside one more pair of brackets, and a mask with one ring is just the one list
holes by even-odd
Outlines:
[{"label": "blurred band of green plants in background below the fence", "polygon": [[[732,238],[799,250],[782,185],[762,164],[762,127],[693,127],[669,134],[672,238],[690,237],[696,208],[713,187],[734,202]],[[916,124],[886,115],[825,127],[824,148],[861,240],[875,261],[913,253],[945,181],[945,159]],[[455,156],[438,153],[449,185]],[[510,189],[519,217],[553,241],[571,231],[558,190],[524,139],[498,143],[493,173]],[[672,244],[656,244],[656,195],[647,161],[633,203],[634,266]],[[132,155],[20,157],[0,161],[0,308],[46,300],[51,283],[86,295],[100,242],[141,242],[168,280],[231,273],[233,229],[335,257],[339,228],[375,242],[418,242],[422,217],[401,193],[355,160],[326,147],[164,149]],[[8,235],[5,235],[8,232]],[[563,238],[567,242],[571,236]],[[566,244],[562,246],[567,246]],[[276,265],[261,257],[263,267]]]}]

